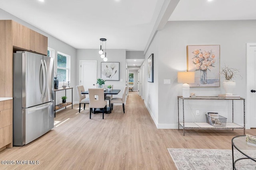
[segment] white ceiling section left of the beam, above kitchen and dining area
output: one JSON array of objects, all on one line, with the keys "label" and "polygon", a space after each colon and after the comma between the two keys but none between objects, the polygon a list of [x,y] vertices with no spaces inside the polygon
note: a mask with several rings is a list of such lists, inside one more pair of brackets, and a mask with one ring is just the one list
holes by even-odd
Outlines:
[{"label": "white ceiling section left of the beam, above kitchen and dining area", "polygon": [[0,8],[76,49],[143,51],[164,0],[0,0]]}]

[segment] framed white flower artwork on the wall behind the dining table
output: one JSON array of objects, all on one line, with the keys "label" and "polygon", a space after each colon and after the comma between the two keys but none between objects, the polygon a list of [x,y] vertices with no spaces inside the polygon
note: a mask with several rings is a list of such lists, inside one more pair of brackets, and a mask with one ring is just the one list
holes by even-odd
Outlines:
[{"label": "framed white flower artwork on the wall behind the dining table", "polygon": [[101,78],[119,81],[119,62],[101,62]]}]

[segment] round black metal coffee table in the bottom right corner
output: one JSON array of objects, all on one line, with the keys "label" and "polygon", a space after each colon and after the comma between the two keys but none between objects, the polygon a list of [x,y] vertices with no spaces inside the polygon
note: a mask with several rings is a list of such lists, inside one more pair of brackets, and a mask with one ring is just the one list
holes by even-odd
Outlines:
[{"label": "round black metal coffee table in the bottom right corner", "polygon": [[[234,147],[236,150],[238,150],[240,153],[242,153],[244,158],[238,158],[234,161]],[[252,157],[252,155],[256,155],[256,146],[249,145],[246,142],[246,136],[236,136],[232,139],[232,161],[233,161],[233,169],[236,170],[236,162],[243,159],[250,159],[256,162],[256,158]]]}]

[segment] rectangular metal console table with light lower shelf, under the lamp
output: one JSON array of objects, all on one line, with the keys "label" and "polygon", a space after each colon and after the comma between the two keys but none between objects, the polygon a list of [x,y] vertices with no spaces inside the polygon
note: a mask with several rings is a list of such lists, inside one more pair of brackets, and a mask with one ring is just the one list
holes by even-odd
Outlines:
[{"label": "rectangular metal console table with light lower shelf, under the lamp", "polygon": [[[180,125],[183,128],[183,136],[185,136],[185,129],[244,129],[245,135],[245,99],[244,98],[220,98],[218,96],[198,96],[198,97],[189,97],[183,98],[182,96],[178,97],[178,130],[180,130]],[[179,99],[182,99],[182,111],[183,111],[183,121],[180,122],[179,117]],[[184,121],[184,100],[232,100],[232,122],[227,122],[226,127],[214,127],[206,122],[185,122]],[[243,100],[244,101],[244,126],[234,123],[234,100]]]}]

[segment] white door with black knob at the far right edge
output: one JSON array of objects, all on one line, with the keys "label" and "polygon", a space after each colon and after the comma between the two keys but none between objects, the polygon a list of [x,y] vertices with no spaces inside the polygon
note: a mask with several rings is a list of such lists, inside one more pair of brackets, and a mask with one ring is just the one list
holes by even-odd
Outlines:
[{"label": "white door with black knob at the far right edge", "polygon": [[[256,43],[247,43],[246,121],[256,127]],[[252,90],[252,92],[251,92]],[[247,125],[248,126],[248,125]],[[247,127],[248,128],[248,127]]]}]

